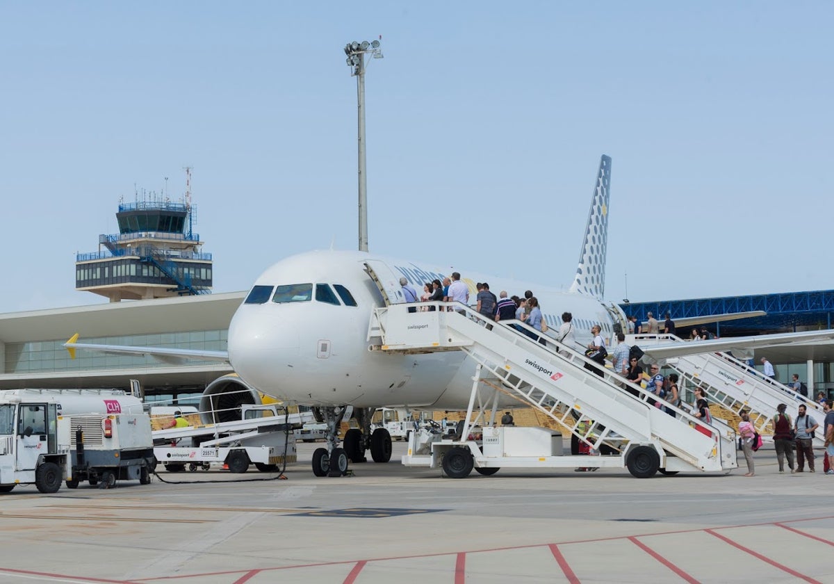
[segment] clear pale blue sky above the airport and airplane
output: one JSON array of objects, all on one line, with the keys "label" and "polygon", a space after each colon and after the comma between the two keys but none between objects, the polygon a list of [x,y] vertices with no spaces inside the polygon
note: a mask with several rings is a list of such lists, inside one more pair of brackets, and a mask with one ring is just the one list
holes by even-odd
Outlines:
[{"label": "clear pale blue sky above the airport and airplane", "polygon": [[104,300],[77,251],[193,166],[214,291],[357,245],[570,284],[613,158],[606,296],[834,288],[830,2],[0,3],[0,312]]}]

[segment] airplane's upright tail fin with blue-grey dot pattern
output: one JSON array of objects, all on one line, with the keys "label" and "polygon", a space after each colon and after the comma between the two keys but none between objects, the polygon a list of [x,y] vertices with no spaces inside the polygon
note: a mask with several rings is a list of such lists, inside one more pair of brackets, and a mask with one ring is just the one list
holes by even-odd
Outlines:
[{"label": "airplane's upright tail fin with blue-grey dot pattern", "polygon": [[590,202],[585,241],[579,254],[576,277],[571,292],[602,300],[605,294],[605,248],[608,245],[608,197],[611,184],[611,157],[602,155],[596,175],[594,197]]}]

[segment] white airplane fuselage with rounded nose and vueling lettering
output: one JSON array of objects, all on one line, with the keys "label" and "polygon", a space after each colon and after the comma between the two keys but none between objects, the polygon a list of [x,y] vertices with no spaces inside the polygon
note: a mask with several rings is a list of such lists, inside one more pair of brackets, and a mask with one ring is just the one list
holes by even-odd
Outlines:
[{"label": "white airplane fuselage with rounded nose and vueling lettering", "polygon": [[[465,409],[475,363],[463,352],[386,355],[369,351],[370,315],[374,307],[385,303],[366,264],[371,264],[384,282],[392,302],[402,301],[394,298],[401,276],[421,294],[425,282],[448,275],[440,269],[364,252],[310,252],[284,259],[254,284],[253,291],[259,290],[261,300],[266,300],[249,303],[248,298],[229,326],[229,360],[234,370],[265,394],[301,405]],[[470,288],[470,305],[476,302],[473,278],[488,282],[496,296],[502,289],[520,296],[525,289],[532,289],[552,329],[551,336],[561,324],[560,315],[567,311],[573,315],[577,343],[590,342],[591,325],[600,325],[610,343],[614,319],[600,300],[535,284],[463,274]],[[301,292],[275,302],[274,287],[291,284],[312,285],[309,294]],[[321,290],[324,300],[317,300],[316,284],[328,284]],[[334,284],[344,286],[356,306],[347,305],[338,294],[340,300],[334,304]],[[326,288],[331,294],[324,294]]]}]

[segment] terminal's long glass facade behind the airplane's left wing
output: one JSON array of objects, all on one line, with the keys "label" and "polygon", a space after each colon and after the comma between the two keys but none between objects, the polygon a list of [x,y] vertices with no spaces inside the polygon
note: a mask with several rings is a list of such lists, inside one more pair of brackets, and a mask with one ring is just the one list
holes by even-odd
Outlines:
[{"label": "terminal's long glass facade behind the airplane's left wing", "polygon": [[[161,335],[124,335],[85,339],[96,345],[133,345],[143,347],[168,347],[171,349],[226,350],[227,330],[198,330],[190,333],[163,333]],[[63,340],[46,340],[6,345],[6,374],[49,373],[58,371],[83,371],[131,367],[169,367],[162,361],[146,355],[104,355],[92,351],[78,351],[70,359]],[[189,360],[189,365],[216,365],[217,361]]]}]

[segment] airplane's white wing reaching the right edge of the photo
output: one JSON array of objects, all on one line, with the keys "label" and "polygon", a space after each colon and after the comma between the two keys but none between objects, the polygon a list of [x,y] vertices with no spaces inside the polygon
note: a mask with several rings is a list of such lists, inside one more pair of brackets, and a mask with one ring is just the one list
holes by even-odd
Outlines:
[{"label": "airplane's white wing reaching the right edge of the photo", "polygon": [[751,349],[779,345],[807,345],[834,340],[834,330],[810,330],[801,333],[777,333],[775,335],[736,336],[726,339],[691,340],[641,346],[640,335],[635,345],[639,346],[652,360],[669,359],[698,353],[734,351],[734,355],[748,354]]}]

